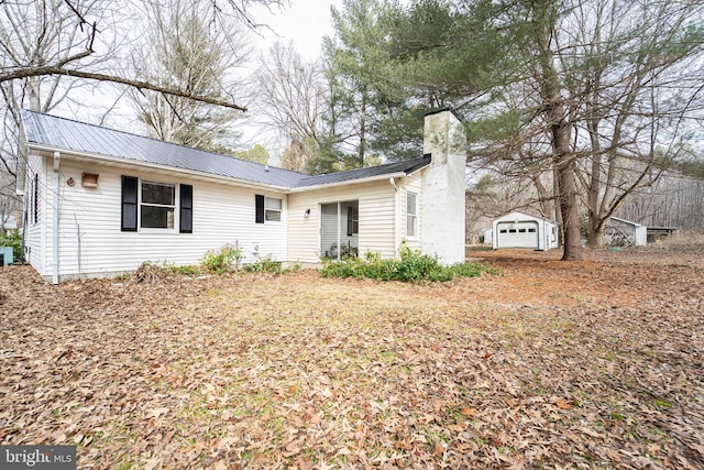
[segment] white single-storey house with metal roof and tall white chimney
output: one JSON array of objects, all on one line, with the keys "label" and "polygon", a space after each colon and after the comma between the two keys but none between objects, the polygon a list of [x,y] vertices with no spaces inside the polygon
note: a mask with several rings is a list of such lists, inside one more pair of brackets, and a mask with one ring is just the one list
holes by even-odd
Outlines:
[{"label": "white single-storey house with metal roof and tall white chimney", "polygon": [[47,282],[144,261],[198,264],[237,244],[271,256],[398,255],[402,241],[464,261],[465,154],[450,110],[426,116],[424,156],[309,176],[25,111],[25,260]]}]

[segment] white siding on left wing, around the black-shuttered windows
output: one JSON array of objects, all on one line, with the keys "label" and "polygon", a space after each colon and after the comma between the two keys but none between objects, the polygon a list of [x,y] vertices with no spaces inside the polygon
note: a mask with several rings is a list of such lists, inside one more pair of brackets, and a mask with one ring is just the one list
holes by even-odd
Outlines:
[{"label": "white siding on left wing, around the black-shuttered windows", "polygon": [[[79,183],[73,187],[66,185],[68,177],[80,182],[81,172],[99,174],[98,187],[84,188]],[[177,229],[121,231],[121,175],[176,187],[193,185],[193,233],[179,233]],[[257,225],[254,221],[252,201],[254,194],[261,190],[188,179],[170,172],[156,174],[78,164],[65,156],[62,157],[61,178],[61,278],[79,272],[86,276],[127,272],[144,261],[199,264],[206,251],[226,243],[237,243],[245,263],[255,261],[255,253],[261,258],[271,255],[277,261],[287,259],[286,223]],[[272,193],[270,196],[282,198],[283,195]],[[51,210],[48,208],[44,214]],[[285,220],[285,199],[280,214]],[[41,226],[47,227],[46,253],[51,259],[51,217]],[[51,265],[40,272],[46,278],[51,275]]]}]

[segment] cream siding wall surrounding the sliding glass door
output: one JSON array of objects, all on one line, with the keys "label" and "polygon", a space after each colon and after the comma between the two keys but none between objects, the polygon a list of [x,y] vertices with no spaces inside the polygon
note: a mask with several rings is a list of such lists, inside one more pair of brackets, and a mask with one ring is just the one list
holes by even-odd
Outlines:
[{"label": "cream siding wall surrounding the sliding glass door", "polygon": [[[385,258],[396,255],[394,242],[395,192],[388,179],[321,188],[288,196],[288,261],[316,264],[320,261],[321,205],[358,201],[359,254],[380,252]],[[307,209],[310,216],[305,217]],[[342,211],[346,223],[346,209]],[[344,225],[344,223],[343,223]],[[346,237],[346,231],[342,233]]]}]

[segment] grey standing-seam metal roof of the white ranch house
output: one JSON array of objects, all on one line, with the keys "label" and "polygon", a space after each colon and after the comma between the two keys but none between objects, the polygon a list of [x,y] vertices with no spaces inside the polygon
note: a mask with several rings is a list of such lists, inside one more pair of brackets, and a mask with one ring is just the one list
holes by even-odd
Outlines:
[{"label": "grey standing-seam metal roof of the white ranch house", "polygon": [[424,157],[309,176],[56,116],[24,110],[23,118],[26,141],[30,144],[188,170],[284,188],[353,182],[399,172],[409,174],[430,163],[429,157]]}]

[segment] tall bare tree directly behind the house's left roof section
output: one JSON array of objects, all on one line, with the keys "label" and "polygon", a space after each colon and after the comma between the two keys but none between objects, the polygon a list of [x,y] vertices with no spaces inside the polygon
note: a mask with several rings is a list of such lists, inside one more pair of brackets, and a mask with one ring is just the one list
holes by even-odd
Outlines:
[{"label": "tall bare tree directly behind the house's left roof section", "polygon": [[[235,96],[244,84],[233,72],[252,51],[249,30],[226,30],[218,24],[216,13],[185,0],[148,3],[141,15],[145,19],[145,44],[133,54],[135,76],[191,95],[218,99],[224,90]],[[130,96],[153,136],[232,153],[234,135],[229,129],[240,116],[238,110],[136,89]]]}]

